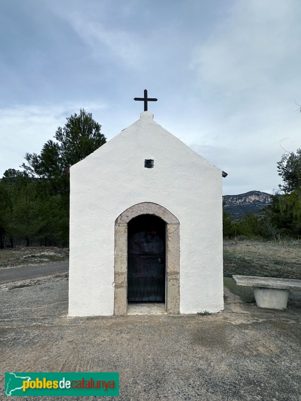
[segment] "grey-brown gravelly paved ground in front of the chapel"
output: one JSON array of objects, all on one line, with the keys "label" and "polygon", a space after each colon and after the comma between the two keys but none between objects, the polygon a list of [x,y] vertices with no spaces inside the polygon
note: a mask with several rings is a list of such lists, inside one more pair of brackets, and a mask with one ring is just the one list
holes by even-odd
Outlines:
[{"label": "grey-brown gravelly paved ground in front of the chapel", "polygon": [[105,399],[300,400],[301,294],[286,311],[225,287],[225,311],[209,316],[68,318],[67,278],[43,280],[0,291],[2,396],[5,371],[117,371],[120,395]]}]

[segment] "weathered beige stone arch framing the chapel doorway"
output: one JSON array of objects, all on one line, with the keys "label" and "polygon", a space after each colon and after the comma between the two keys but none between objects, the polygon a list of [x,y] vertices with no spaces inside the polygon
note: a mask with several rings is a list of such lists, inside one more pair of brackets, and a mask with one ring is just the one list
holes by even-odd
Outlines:
[{"label": "weathered beige stone arch framing the chapel doorway", "polygon": [[155,215],[166,222],[166,311],[180,313],[180,223],[164,207],[143,202],[126,209],[115,221],[114,315],[127,314],[127,223],[140,215]]}]

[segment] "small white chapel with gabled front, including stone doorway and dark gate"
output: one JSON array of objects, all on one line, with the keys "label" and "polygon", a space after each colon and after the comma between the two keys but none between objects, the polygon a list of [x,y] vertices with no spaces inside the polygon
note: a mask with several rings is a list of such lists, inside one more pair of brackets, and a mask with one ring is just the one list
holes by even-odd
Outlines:
[{"label": "small white chapel with gabled front, including stone doorway and dark gate", "polygon": [[70,168],[69,316],[224,308],[222,170],[153,118]]}]

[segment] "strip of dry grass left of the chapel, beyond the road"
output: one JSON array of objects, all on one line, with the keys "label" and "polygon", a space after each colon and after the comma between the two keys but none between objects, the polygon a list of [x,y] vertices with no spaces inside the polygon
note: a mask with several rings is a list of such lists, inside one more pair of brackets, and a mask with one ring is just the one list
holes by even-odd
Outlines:
[{"label": "strip of dry grass left of the chapel, beyond the road", "polygon": [[0,250],[0,268],[42,265],[45,263],[67,262],[68,260],[69,248],[16,247]]}]

